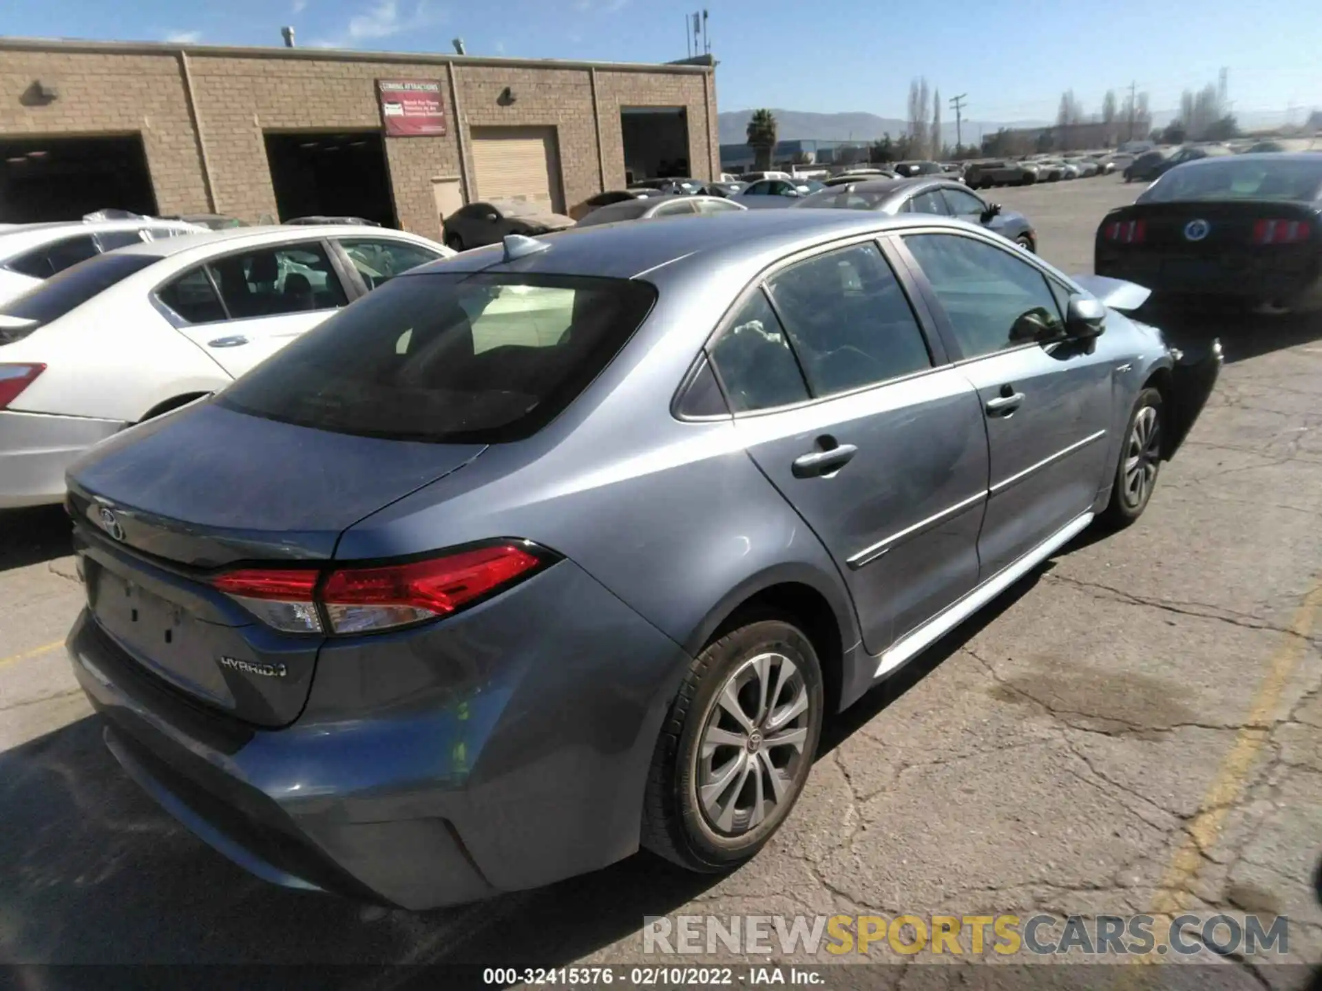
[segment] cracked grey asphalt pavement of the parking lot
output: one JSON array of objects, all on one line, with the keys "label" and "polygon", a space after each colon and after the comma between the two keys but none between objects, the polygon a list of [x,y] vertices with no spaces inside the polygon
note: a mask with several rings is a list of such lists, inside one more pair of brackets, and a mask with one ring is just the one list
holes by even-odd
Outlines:
[{"label": "cracked grey asphalt pavement of the parking lot", "polygon": [[[1077,272],[1137,192],[989,196]],[[1145,517],[1084,534],[829,727],[783,834],[724,877],[640,855],[424,914],[254,880],[102,747],[50,646],[81,601],[59,513],[0,518],[0,959],[624,963],[644,916],[1224,909],[1288,914],[1289,959],[1322,961],[1322,324],[1175,330],[1220,334],[1227,366]]]}]

